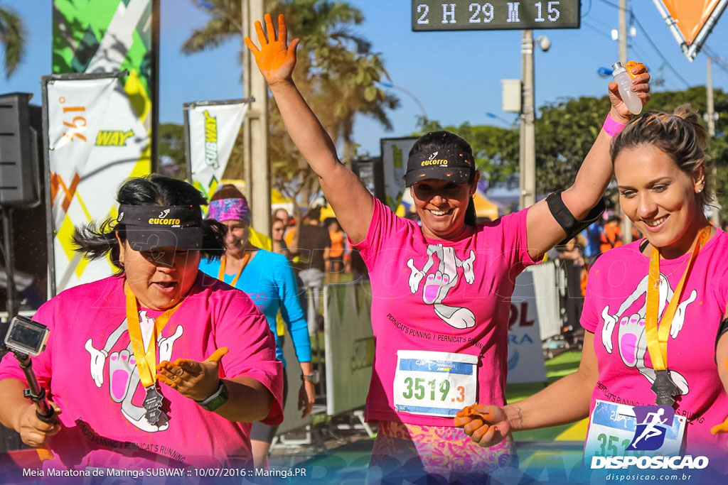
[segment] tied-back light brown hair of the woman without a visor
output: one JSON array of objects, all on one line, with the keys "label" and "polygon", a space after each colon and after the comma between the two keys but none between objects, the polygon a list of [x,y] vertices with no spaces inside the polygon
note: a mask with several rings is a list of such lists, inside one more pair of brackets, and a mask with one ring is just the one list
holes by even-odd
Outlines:
[{"label": "tied-back light brown hair of the woman without a visor", "polygon": [[[647,111],[612,141],[612,164],[622,150],[654,145],[668,153],[683,172],[692,175],[706,164],[708,133],[698,119],[697,112],[688,104],[679,105],[672,114]],[[705,185],[708,185],[708,173],[706,169]],[[696,197],[703,207],[711,201],[708,191],[701,191]]]}]

